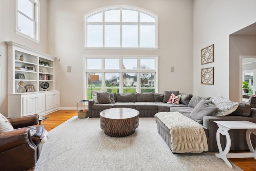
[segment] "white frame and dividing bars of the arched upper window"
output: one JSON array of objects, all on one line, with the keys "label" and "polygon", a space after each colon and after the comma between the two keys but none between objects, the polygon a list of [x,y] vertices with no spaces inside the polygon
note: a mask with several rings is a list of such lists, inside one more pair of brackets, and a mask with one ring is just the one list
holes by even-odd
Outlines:
[{"label": "white frame and dividing bars of the arched upper window", "polygon": [[[104,12],[108,11],[108,10],[115,10],[115,9],[120,9],[120,17],[122,19],[122,10],[134,10],[137,11],[138,14],[140,12],[147,14],[149,16],[152,16],[156,19],[156,22],[152,23],[152,22],[139,22],[139,15],[138,15],[138,22],[104,22]],[[87,22],[87,18],[90,16],[93,16],[95,14],[98,14],[100,12],[103,12],[102,14],[102,22]],[[99,25],[102,24],[102,29],[103,29],[103,47],[87,47],[87,26],[88,25]],[[104,26],[108,25],[108,24],[120,24],[120,46],[121,47],[115,47],[115,48],[110,48],[110,47],[104,47]],[[134,25],[136,24],[138,26],[138,45],[139,45],[139,36],[140,36],[140,25],[154,25],[155,26],[155,43],[156,46],[155,47],[151,47],[151,48],[141,48],[141,47],[135,47],[135,48],[123,48],[122,47],[122,25]],[[148,10],[145,10],[143,8],[138,8],[138,7],[134,7],[134,6],[108,6],[108,7],[104,7],[104,8],[99,8],[97,10],[88,12],[86,14],[84,14],[84,50],[158,50],[158,15],[154,14],[153,12],[150,12]]]}]

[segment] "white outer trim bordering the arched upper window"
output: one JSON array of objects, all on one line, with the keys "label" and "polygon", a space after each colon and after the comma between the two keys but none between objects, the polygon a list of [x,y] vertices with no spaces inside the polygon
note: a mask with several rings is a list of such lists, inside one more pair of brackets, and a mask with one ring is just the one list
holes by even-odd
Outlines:
[{"label": "white outer trim bordering the arched upper window", "polygon": [[[100,10],[110,10],[110,9],[114,9],[114,8],[125,8],[125,9],[131,9],[131,10],[140,10],[142,12],[145,12],[148,15],[154,15],[154,17],[156,18],[156,47],[154,48],[104,48],[104,47],[100,47],[100,48],[88,48],[86,45],[86,18],[88,16],[92,16],[96,13],[98,13]],[[127,23],[128,24],[128,23]],[[143,8],[139,8],[136,6],[106,6],[103,8],[98,8],[96,10],[93,10],[91,12],[88,12],[86,14],[84,14],[84,50],[158,50],[158,15],[154,14],[151,11],[148,11],[146,9]]]}]

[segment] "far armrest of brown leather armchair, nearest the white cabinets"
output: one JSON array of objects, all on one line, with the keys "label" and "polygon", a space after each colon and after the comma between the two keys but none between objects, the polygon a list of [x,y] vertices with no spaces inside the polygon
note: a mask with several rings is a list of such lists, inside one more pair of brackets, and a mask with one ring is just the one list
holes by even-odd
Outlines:
[{"label": "far armrest of brown leather armchair, nearest the white cabinets", "polygon": [[34,114],[34,115],[11,118],[8,120],[10,121],[10,123],[12,123],[13,128],[16,129],[16,128],[28,127],[31,125],[38,125],[38,119],[39,119],[39,115]]}]

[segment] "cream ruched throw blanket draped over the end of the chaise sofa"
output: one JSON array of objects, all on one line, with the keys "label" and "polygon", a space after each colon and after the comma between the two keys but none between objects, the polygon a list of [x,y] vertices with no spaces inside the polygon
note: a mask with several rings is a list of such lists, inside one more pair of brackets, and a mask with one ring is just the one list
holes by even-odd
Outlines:
[{"label": "cream ruched throw blanket draped over the end of the chaise sofa", "polygon": [[[158,112],[158,117],[170,129],[173,153],[202,153],[208,151],[202,125],[179,112]],[[157,121],[156,121],[157,122]]]}]

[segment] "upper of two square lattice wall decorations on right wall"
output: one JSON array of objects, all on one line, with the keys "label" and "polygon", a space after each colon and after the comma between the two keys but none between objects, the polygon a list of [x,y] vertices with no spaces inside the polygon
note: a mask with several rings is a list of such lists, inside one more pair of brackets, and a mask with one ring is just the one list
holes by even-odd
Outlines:
[{"label": "upper of two square lattice wall decorations on right wall", "polygon": [[214,44],[201,49],[201,64],[214,62]]}]

